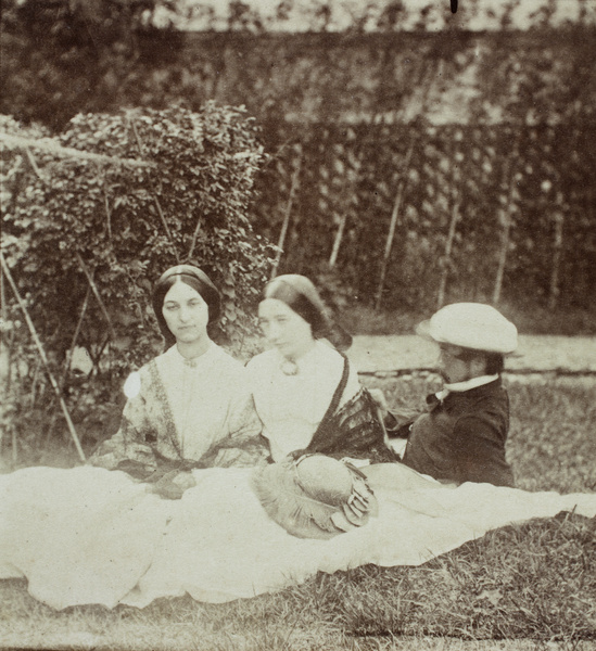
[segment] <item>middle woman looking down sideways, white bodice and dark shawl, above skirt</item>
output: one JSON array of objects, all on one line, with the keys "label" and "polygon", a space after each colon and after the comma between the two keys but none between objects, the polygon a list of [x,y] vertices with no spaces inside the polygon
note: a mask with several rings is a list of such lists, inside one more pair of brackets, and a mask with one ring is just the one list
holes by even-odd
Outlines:
[{"label": "middle woman looking down sideways, white bodice and dark shawl, above skirt", "polygon": [[329,318],[313,283],[279,276],[265,288],[258,319],[271,348],[248,368],[274,461],[304,451],[394,461],[375,403],[341,352],[352,339]]}]

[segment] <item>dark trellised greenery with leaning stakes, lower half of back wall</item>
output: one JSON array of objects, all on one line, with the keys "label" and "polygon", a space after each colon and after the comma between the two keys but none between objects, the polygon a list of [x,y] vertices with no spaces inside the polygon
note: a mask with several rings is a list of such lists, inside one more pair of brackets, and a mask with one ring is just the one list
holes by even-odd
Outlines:
[{"label": "dark trellised greenery with leaning stakes, lower half of back wall", "polygon": [[[325,124],[302,129],[300,137],[280,128],[277,142],[291,139],[294,146],[281,148],[277,166],[259,177],[255,228],[277,240],[289,179],[302,157],[280,271],[317,275],[327,283],[343,216],[331,271],[341,279],[346,301],[372,305],[400,197],[384,309],[433,310],[443,270],[445,301],[491,302],[504,250],[503,304],[546,308],[555,299],[560,308],[583,306],[596,282],[593,132],[593,126],[579,122],[557,127]],[[560,241],[557,220],[563,224]]]}]

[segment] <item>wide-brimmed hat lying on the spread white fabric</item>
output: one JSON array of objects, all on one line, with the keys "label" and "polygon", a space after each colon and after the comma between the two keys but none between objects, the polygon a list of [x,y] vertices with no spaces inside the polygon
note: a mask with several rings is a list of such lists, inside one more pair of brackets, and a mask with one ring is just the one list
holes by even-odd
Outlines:
[{"label": "wide-brimmed hat lying on the spread white fabric", "polygon": [[332,538],[378,513],[365,475],[325,455],[258,468],[252,487],[268,515],[299,538]]}]

